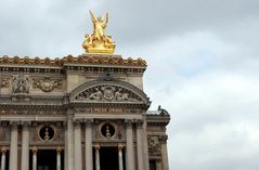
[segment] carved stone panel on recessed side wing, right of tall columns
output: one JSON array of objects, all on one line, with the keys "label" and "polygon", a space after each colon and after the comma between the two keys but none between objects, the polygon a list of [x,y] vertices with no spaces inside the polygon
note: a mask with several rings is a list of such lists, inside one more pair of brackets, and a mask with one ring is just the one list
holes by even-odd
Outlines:
[{"label": "carved stone panel on recessed side wing, right of tall columns", "polygon": [[148,155],[159,156],[161,154],[158,136],[147,136]]}]

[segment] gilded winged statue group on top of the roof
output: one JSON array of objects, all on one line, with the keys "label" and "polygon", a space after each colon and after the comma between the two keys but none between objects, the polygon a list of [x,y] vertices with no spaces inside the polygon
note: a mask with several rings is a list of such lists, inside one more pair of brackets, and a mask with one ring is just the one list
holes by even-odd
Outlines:
[{"label": "gilded winged statue group on top of the roof", "polygon": [[115,43],[112,41],[111,36],[104,35],[104,29],[107,26],[108,13],[105,13],[103,17],[95,17],[90,11],[90,15],[93,23],[93,34],[86,35],[86,40],[82,42],[82,48],[88,53],[95,54],[113,54],[115,50]]}]

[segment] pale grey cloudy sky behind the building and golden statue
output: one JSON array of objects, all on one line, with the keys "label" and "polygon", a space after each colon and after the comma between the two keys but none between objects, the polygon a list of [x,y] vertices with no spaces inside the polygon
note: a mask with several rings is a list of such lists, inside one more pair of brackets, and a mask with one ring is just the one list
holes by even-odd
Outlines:
[{"label": "pale grey cloudy sky behind the building and golden statue", "polygon": [[258,0],[0,1],[0,55],[83,53],[90,9],[109,13],[116,54],[147,61],[171,170],[258,170]]}]

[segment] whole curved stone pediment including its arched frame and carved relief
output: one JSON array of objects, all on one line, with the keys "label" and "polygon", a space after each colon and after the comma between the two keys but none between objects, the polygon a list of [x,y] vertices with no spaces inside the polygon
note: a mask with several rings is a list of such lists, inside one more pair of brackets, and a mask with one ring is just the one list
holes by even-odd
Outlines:
[{"label": "whole curved stone pediment including its arched frame and carved relief", "polygon": [[76,88],[69,96],[72,103],[138,103],[150,105],[146,94],[124,81],[90,81]]}]

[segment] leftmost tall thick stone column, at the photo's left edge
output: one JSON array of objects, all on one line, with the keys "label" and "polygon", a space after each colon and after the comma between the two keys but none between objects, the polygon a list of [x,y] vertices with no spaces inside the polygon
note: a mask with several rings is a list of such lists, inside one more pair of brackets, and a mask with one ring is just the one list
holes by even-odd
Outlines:
[{"label": "leftmost tall thick stone column, at the photo's left edge", "polygon": [[11,121],[10,123],[11,123],[11,144],[10,144],[9,169],[17,170],[18,122]]}]

